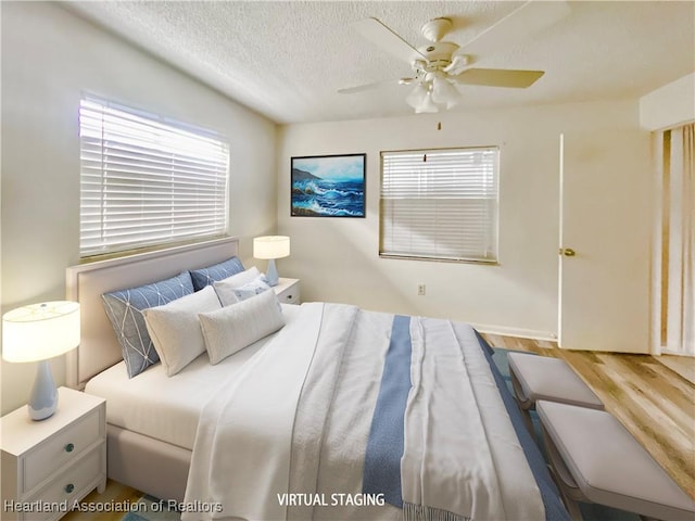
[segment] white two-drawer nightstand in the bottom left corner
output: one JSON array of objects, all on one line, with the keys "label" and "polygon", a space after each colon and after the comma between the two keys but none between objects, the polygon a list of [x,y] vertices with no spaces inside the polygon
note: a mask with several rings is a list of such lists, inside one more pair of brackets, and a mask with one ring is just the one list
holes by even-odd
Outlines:
[{"label": "white two-drawer nightstand in the bottom left corner", "polygon": [[106,486],[106,402],[67,387],[58,410],[33,421],[25,407],[0,420],[2,519],[56,520]]}]

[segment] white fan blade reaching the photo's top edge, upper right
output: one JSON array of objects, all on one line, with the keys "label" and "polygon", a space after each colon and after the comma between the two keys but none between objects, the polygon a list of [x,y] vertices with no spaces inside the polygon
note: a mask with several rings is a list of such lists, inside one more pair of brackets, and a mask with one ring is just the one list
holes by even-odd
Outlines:
[{"label": "white fan blade reaching the photo's top edge, upper right", "polygon": [[490,55],[502,49],[518,45],[525,37],[551,27],[570,13],[571,9],[564,0],[528,0],[497,21],[472,40],[462,46],[466,54]]}]

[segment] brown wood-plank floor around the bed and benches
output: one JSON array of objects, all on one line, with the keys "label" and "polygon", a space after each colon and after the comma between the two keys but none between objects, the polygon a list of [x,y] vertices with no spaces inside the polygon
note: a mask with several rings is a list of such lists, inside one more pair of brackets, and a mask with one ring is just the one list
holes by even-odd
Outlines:
[{"label": "brown wood-plank floor around the bed and benches", "polygon": [[[495,347],[528,351],[567,361],[601,397],[606,410],[620,420],[673,480],[695,498],[695,383],[692,381],[695,360],[565,351],[557,348],[554,342],[494,334],[483,336]],[[93,492],[85,500],[137,501],[140,497],[138,491],[109,481],[104,494]],[[71,512],[63,520],[93,520],[93,516]],[[100,520],[117,521],[123,513],[99,516]]]}]

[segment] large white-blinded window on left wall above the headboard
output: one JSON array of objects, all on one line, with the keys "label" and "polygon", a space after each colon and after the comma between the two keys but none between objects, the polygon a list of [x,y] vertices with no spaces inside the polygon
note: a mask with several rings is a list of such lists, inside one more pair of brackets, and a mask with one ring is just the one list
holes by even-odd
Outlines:
[{"label": "large white-blinded window on left wall above the headboard", "polygon": [[218,136],[93,98],[80,102],[79,134],[81,256],[226,231]]}]

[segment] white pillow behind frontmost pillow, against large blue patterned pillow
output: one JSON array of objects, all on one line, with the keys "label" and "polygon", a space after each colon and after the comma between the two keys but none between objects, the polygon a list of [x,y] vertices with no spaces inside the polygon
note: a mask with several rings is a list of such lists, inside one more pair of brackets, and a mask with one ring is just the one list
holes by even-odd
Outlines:
[{"label": "white pillow behind frontmost pillow, against large blue patterned pillow", "polygon": [[205,352],[198,315],[220,307],[215,290],[207,285],[195,293],[142,312],[167,377],[176,374]]}]

